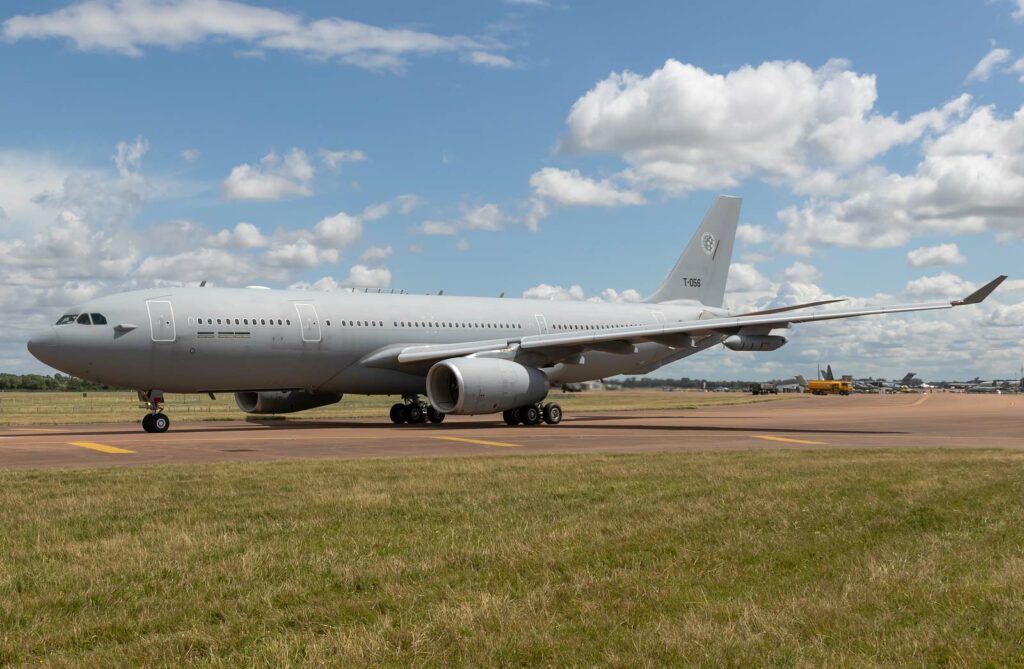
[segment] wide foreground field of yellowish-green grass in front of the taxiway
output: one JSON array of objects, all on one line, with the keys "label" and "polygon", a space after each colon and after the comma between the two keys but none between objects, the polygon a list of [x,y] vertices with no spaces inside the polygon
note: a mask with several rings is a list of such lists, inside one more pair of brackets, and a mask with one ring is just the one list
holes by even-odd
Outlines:
[{"label": "wide foreground field of yellowish-green grass in front of the taxiway", "polygon": [[0,665],[1024,664],[1024,454],[0,472]]}]

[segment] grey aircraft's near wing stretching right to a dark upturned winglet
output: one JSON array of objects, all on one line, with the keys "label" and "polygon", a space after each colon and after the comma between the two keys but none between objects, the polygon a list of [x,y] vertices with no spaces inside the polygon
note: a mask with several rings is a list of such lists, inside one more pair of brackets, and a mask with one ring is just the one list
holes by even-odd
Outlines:
[{"label": "grey aircraft's near wing stretching right to a dark upturned winglet", "polygon": [[[810,313],[792,312],[792,309],[803,308],[816,304],[811,303],[796,305],[793,307],[783,307],[790,309],[790,311],[782,311],[781,309],[768,309],[766,311],[756,311],[745,316],[705,319],[698,321],[683,321],[677,323],[642,326],[639,328],[612,328],[608,330],[586,332],[529,335],[522,337],[521,339],[488,339],[455,344],[424,344],[400,348],[397,351],[397,362],[406,364],[423,363],[434,360],[443,360],[445,358],[469,356],[483,351],[501,351],[505,349],[511,351],[516,347],[520,350],[535,350],[538,352],[556,352],[553,349],[562,349],[564,354],[570,354],[585,349],[611,351],[617,349],[622,352],[631,352],[631,350],[627,350],[627,348],[632,348],[630,344],[646,341],[664,343],[674,347],[684,346],[687,345],[686,342],[692,341],[694,337],[702,337],[713,334],[736,334],[744,328],[769,330],[771,328],[784,328],[791,324],[813,323],[815,321],[836,321],[838,319],[853,319],[861,316],[876,316],[880,313],[932,311],[936,309],[948,309],[954,306],[963,306],[965,304],[977,304],[988,297],[989,294],[991,294],[991,292],[995,290],[1006,279],[1006,276],[997,277],[961,300],[916,302],[913,304],[876,306],[840,311],[817,311]],[[393,352],[391,354],[393,356]],[[392,360],[394,359],[392,358]]]}]

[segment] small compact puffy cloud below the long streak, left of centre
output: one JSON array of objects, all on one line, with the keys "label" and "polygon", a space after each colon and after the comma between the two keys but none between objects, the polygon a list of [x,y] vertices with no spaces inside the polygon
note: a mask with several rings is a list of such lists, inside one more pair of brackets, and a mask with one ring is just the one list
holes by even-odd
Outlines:
[{"label": "small compact puffy cloud below the long streak, left of centre", "polygon": [[305,152],[293,149],[282,159],[270,152],[258,165],[244,163],[231,168],[224,179],[228,200],[283,200],[311,195],[309,182],[315,170]]}]

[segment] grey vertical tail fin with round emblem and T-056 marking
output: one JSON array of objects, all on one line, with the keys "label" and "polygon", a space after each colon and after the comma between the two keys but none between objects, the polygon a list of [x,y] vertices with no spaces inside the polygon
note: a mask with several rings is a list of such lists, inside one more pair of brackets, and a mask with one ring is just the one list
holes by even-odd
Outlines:
[{"label": "grey vertical tail fin with round emblem and T-056 marking", "polygon": [[722,306],[741,198],[719,196],[668,278],[645,302],[697,300]]}]

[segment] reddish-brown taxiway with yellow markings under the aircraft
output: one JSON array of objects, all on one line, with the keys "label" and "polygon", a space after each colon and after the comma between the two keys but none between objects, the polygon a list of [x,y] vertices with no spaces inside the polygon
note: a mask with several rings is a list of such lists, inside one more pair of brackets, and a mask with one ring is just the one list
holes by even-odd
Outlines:
[{"label": "reddish-brown taxiway with yellow markings under the aircraft", "polygon": [[1024,395],[808,395],[687,411],[567,413],[560,425],[535,427],[473,416],[440,425],[392,425],[384,416],[172,422],[164,434],[138,424],[2,427],[0,468],[779,448],[1022,449]]}]

